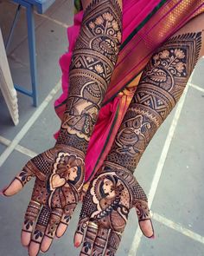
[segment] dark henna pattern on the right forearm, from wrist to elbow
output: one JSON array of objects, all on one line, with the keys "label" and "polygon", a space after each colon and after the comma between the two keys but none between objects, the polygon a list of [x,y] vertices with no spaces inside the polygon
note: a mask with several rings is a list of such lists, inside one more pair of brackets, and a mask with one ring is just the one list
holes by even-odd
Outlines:
[{"label": "dark henna pattern on the right forearm, from wrist to elbow", "polygon": [[201,49],[201,32],[171,37],[143,71],[107,161],[134,172],[143,151],[182,95]]}]

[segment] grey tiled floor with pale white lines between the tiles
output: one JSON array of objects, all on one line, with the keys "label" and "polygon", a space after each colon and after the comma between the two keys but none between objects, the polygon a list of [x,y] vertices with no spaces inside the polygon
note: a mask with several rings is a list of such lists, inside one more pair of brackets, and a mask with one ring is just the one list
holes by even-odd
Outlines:
[{"label": "grey tiled floor with pale white lines between the tiles", "polygon": [[[0,1],[0,25],[8,36],[15,5]],[[58,59],[67,49],[66,28],[72,23],[72,1],[57,0],[43,16],[35,15],[40,106],[18,94],[20,123],[14,127],[0,95],[0,187],[5,186],[29,160],[50,148],[60,121],[54,114],[54,98],[60,95],[61,71]],[[29,88],[29,59],[24,11],[10,45],[9,62],[14,82]],[[204,255],[204,58],[196,66],[186,95],[150,142],[137,167],[137,180],[148,193],[156,240],[147,240],[137,229],[134,211],[119,247],[120,256]],[[50,91],[53,99],[45,101]],[[14,148],[14,150],[13,150]],[[16,196],[0,198],[0,256],[22,256],[20,244],[23,212],[33,181]],[[54,241],[48,255],[79,255],[73,247],[73,233],[79,216],[73,216],[61,240]],[[135,226],[135,228],[133,228]]]}]

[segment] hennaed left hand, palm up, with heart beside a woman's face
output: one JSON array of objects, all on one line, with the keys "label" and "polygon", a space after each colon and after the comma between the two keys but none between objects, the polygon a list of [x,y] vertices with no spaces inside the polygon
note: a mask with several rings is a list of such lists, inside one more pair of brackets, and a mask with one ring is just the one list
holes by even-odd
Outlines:
[{"label": "hennaed left hand, palm up, with heart beside a woman's face", "polygon": [[3,194],[10,196],[35,177],[35,186],[22,226],[22,245],[29,255],[48,251],[54,236],[61,237],[76,207],[84,183],[84,155],[57,145],[31,159]]}]

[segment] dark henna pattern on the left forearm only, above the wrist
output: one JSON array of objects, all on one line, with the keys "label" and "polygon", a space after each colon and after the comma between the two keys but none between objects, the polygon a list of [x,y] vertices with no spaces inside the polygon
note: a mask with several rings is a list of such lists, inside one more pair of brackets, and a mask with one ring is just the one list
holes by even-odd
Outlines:
[{"label": "dark henna pattern on the left forearm only, above the wrist", "polygon": [[73,50],[69,72],[72,86],[57,143],[73,143],[75,148],[83,148],[83,152],[86,152],[117,62],[121,19],[122,12],[117,0],[93,0],[86,8],[80,36]]}]

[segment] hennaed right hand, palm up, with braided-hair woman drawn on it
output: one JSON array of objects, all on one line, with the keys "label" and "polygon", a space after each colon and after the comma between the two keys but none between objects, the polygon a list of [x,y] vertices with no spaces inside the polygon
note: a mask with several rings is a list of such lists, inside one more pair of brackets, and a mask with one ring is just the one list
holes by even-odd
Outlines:
[{"label": "hennaed right hand, palm up, with braided-hair woman drawn on it", "polygon": [[145,236],[154,237],[147,197],[131,172],[105,162],[83,201],[74,245],[84,243],[80,256],[115,255],[128,213],[134,207]]}]

